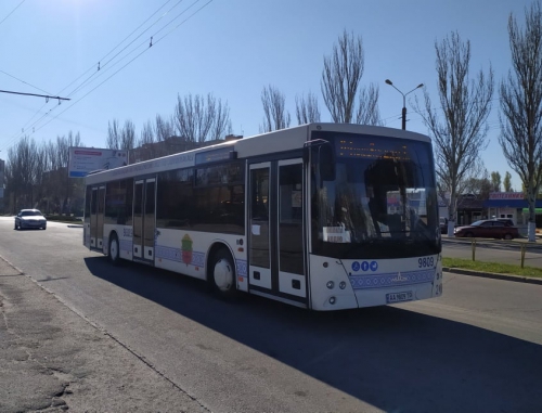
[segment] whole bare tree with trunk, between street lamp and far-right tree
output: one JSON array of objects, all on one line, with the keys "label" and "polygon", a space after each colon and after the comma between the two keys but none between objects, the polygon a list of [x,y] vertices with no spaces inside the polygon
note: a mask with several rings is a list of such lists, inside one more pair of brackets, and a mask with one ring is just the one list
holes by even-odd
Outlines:
[{"label": "whole bare tree with trunk, between street lamp and far-right tree", "polygon": [[[440,192],[450,193],[448,235],[453,235],[457,214],[457,196],[469,178],[483,170],[480,152],[487,147],[487,118],[493,95],[493,70],[480,69],[469,79],[470,42],[463,42],[452,33],[440,43],[435,42],[440,107],[433,107],[424,90],[424,104],[416,98],[415,111],[422,116],[435,143],[435,156]],[[439,119],[442,111],[443,121]]]}]

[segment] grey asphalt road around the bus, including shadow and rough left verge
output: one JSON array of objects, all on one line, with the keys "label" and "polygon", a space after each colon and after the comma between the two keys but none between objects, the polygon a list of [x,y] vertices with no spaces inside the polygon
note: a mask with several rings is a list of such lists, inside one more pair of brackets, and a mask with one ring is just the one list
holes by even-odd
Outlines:
[{"label": "grey asphalt road around the bus, including shadow and rough left verge", "polygon": [[[144,266],[113,268],[85,249],[80,228],[12,228],[0,218],[0,257],[23,273],[0,276],[0,348],[10,350],[0,377],[9,382],[21,354],[39,360],[60,382],[47,387],[48,412],[542,410],[540,285],[446,273],[438,299],[312,313],[260,297],[224,302],[199,281]],[[17,313],[29,308],[49,314],[35,328]],[[41,357],[51,343],[66,349],[54,362]],[[15,395],[0,383],[1,406],[21,405]]]}]

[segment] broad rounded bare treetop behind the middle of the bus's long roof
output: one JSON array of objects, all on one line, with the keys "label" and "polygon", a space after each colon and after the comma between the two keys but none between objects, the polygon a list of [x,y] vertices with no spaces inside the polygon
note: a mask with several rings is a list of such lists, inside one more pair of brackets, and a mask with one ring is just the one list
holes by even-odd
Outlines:
[{"label": "broad rounded bare treetop behind the middle of the bus's long roof", "polygon": [[230,108],[212,94],[177,96],[175,127],[189,142],[214,141],[231,131]]}]

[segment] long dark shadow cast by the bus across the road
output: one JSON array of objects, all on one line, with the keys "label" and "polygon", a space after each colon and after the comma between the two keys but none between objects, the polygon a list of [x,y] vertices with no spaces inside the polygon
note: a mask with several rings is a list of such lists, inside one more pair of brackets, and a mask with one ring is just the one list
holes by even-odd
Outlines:
[{"label": "long dark shadow cast by the bus across the road", "polygon": [[392,307],[309,312],[144,266],[90,272],[389,412],[541,411],[542,347]]}]

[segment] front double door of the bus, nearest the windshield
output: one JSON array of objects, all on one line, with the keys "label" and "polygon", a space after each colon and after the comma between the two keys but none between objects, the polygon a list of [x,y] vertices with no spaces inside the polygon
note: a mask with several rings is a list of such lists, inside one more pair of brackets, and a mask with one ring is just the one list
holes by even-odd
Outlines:
[{"label": "front double door of the bus, nearest the windshield", "polygon": [[305,307],[302,160],[250,165],[248,191],[249,289]]}]

